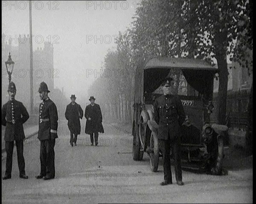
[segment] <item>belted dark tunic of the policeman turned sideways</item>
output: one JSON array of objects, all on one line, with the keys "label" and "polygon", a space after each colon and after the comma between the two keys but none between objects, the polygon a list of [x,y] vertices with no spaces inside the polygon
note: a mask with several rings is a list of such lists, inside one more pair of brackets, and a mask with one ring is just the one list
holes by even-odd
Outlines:
[{"label": "belted dark tunic of the policeman turned sideways", "polygon": [[48,140],[58,138],[58,111],[51,99],[44,100],[39,106],[38,139]]}]

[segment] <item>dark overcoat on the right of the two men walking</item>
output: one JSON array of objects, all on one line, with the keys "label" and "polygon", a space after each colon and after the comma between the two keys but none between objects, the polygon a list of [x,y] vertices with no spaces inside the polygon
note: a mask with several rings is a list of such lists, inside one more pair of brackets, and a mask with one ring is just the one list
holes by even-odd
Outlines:
[{"label": "dark overcoat on the right of the two men walking", "polygon": [[[85,134],[91,134],[93,132],[104,133],[102,126],[102,112],[99,104],[94,103],[94,106],[91,104],[86,106],[84,117],[87,119],[85,125]],[[89,121],[88,119],[91,118]]]}]

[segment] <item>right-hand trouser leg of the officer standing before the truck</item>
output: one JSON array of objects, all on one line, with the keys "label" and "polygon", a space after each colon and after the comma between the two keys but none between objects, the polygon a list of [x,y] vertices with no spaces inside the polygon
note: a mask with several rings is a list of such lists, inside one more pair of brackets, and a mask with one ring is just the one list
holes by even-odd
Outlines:
[{"label": "right-hand trouser leg of the officer standing before the truck", "polygon": [[172,145],[175,160],[175,177],[176,181],[182,181],[181,158],[180,158],[180,138],[174,141]]}]

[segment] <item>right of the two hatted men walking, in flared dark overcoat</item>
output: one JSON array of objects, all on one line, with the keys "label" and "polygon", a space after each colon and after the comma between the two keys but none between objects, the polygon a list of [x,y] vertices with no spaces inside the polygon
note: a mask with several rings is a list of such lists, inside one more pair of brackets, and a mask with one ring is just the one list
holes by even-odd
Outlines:
[{"label": "right of the two hatted men walking, in flared dark overcoat", "polygon": [[93,96],[89,99],[90,105],[86,106],[84,117],[87,119],[85,125],[85,134],[90,135],[91,145],[93,146],[93,134],[95,140],[95,146],[98,145],[99,132],[104,133],[102,126],[102,112],[99,104],[94,103],[95,98]]}]

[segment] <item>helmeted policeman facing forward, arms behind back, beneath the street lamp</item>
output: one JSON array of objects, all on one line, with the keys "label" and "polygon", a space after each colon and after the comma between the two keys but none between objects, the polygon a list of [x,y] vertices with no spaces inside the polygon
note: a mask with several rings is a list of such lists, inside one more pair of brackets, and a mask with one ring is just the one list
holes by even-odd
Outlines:
[{"label": "helmeted policeman facing forward, arms behind back, beneath the street lamp", "polygon": [[9,101],[2,108],[2,125],[6,126],[4,140],[6,148],[6,173],[3,180],[11,178],[12,174],[12,153],[14,141],[17,147],[18,167],[20,178],[29,178],[25,174],[25,161],[23,157],[23,140],[25,139],[23,123],[29,119],[26,107],[15,100],[16,86],[12,81],[8,86]]}]

